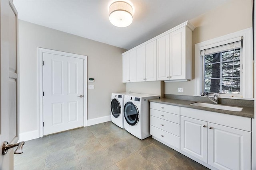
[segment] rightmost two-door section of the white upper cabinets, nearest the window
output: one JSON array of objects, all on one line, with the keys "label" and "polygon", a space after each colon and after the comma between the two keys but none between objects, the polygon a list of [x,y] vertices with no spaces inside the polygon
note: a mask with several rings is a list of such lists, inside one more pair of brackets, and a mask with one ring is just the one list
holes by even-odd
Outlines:
[{"label": "rightmost two-door section of the white upper cabinets, nearest the window", "polygon": [[157,80],[192,79],[192,30],[183,26],[157,42]]}]

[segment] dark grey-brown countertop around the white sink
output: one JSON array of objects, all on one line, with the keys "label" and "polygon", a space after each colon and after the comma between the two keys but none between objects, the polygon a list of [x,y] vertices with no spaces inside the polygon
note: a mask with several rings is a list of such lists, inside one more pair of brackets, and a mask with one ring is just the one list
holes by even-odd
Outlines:
[{"label": "dark grey-brown countertop around the white sink", "polygon": [[180,106],[180,107],[189,107],[189,108],[192,108],[192,109],[213,111],[213,112],[224,113],[224,114],[229,114],[229,115],[236,115],[236,116],[254,118],[254,107],[243,107],[242,111],[228,111],[228,110],[212,109],[212,108],[201,107],[201,106],[192,106],[192,105],[189,105],[189,104],[196,103],[196,102],[195,101],[189,101],[189,100],[160,98],[160,99],[150,99],[148,101],[149,102],[162,103],[162,104],[169,104],[169,105],[174,105],[174,106]]}]

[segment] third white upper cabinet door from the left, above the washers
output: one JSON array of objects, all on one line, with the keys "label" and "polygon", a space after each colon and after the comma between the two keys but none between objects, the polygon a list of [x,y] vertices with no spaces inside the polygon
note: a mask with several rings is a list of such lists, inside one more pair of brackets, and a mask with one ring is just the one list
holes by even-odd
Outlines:
[{"label": "third white upper cabinet door from the left, above the washers", "polygon": [[144,82],[145,81],[145,45],[136,49],[136,81]]}]

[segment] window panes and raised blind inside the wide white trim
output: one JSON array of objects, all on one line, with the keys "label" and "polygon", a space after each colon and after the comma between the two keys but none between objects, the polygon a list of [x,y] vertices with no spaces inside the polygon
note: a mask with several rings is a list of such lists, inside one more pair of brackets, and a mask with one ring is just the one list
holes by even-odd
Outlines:
[{"label": "window panes and raised blind inside the wide white trim", "polygon": [[200,51],[204,61],[204,92],[240,94],[241,41]]}]

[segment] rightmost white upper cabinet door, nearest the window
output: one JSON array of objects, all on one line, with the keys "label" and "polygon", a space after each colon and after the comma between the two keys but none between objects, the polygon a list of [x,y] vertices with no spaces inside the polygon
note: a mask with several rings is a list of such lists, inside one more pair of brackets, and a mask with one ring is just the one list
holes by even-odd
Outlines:
[{"label": "rightmost white upper cabinet door, nearest the window", "polygon": [[170,80],[178,80],[186,78],[186,42],[185,42],[185,27],[178,29],[169,34],[170,38]]}]

